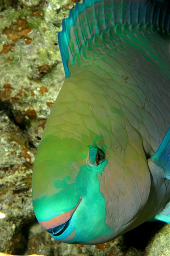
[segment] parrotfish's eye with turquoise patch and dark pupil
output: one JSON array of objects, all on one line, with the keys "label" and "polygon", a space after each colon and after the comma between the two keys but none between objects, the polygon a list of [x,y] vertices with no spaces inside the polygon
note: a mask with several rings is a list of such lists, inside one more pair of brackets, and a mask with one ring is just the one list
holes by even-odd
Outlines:
[{"label": "parrotfish's eye with turquoise patch and dark pupil", "polygon": [[90,147],[88,157],[91,166],[99,166],[105,159],[105,153],[100,148]]}]

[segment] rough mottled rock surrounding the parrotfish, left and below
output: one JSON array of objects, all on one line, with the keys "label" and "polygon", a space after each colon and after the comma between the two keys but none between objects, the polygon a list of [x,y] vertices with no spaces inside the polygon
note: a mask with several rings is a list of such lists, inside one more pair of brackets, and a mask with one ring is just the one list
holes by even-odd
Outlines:
[{"label": "rough mottled rock surrounding the parrotfish, left and below", "polygon": [[168,224],[144,223],[111,242],[87,246],[55,241],[34,216],[35,152],[65,77],[57,33],[75,2],[0,0],[0,252],[168,256]]}]

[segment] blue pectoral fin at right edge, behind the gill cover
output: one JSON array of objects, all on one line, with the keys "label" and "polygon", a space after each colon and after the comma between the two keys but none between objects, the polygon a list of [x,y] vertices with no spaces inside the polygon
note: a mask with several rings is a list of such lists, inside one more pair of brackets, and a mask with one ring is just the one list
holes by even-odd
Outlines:
[{"label": "blue pectoral fin at right edge, behind the gill cover", "polygon": [[162,140],[158,150],[149,158],[149,160],[156,166],[161,167],[164,171],[164,177],[170,180],[170,128]]}]

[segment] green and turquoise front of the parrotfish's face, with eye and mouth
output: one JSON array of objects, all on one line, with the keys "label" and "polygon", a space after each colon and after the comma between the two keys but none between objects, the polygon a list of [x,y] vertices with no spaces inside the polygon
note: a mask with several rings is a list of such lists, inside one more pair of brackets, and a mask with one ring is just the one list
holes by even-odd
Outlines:
[{"label": "green and turquoise front of the parrotfish's face, with eye and mouth", "polygon": [[49,134],[41,140],[32,177],[33,207],[54,239],[88,244],[111,233],[98,177],[107,165],[105,150],[102,136],[80,141]]}]

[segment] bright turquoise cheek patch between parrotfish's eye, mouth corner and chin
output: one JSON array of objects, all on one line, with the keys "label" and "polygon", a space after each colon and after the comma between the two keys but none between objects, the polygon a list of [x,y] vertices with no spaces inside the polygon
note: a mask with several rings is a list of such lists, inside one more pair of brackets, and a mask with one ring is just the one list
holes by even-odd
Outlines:
[{"label": "bright turquoise cheek patch between parrotfish's eye, mouth corner and chin", "polygon": [[[75,212],[75,222],[78,230],[77,241],[88,242],[97,239],[99,236],[109,235],[112,230],[105,224],[106,210],[105,199],[100,192],[100,182],[98,175],[101,174],[105,168],[103,163],[102,168],[83,166],[82,180],[84,180],[84,194],[82,195],[82,202]],[[85,175],[86,174],[86,175]],[[85,175],[83,177],[83,175]],[[74,217],[74,215],[73,215]],[[90,243],[91,244],[91,243]]]}]

